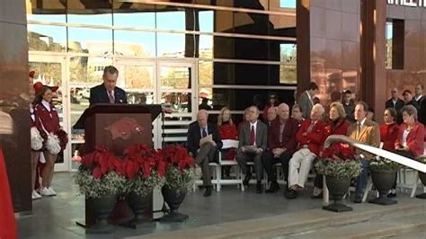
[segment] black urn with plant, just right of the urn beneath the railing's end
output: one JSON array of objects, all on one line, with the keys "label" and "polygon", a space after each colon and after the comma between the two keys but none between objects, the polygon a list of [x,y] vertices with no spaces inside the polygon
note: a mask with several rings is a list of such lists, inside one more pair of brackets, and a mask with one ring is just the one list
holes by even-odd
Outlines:
[{"label": "black urn with plant, just right of the urn beneath the railing's end", "polygon": [[371,180],[378,191],[378,198],[369,199],[369,203],[379,205],[392,205],[397,203],[395,199],[387,198],[387,193],[392,189],[396,181],[396,172],[401,169],[401,164],[386,158],[378,158],[370,162],[368,168],[371,172]]}]

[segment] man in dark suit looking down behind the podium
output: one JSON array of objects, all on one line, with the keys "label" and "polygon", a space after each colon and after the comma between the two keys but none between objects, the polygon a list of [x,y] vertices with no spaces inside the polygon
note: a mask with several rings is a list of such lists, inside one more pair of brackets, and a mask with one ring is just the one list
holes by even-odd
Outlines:
[{"label": "man in dark suit looking down behind the podium", "polygon": [[95,103],[128,103],[126,92],[117,84],[119,70],[114,66],[106,66],[103,69],[103,84],[90,89],[90,105]]}]

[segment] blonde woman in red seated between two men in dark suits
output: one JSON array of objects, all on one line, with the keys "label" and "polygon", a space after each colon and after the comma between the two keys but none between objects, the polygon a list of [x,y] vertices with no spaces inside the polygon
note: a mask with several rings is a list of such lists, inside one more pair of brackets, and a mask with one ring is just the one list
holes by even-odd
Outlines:
[{"label": "blonde woman in red seated between two men in dark suits", "polygon": [[[222,108],[217,116],[217,127],[219,128],[219,134],[222,139],[238,139],[238,131],[236,131],[235,124],[231,119],[231,111],[226,107]],[[224,155],[223,159],[235,159],[235,148],[224,149],[222,151]],[[226,176],[229,177],[230,166],[224,167],[224,171]]]}]

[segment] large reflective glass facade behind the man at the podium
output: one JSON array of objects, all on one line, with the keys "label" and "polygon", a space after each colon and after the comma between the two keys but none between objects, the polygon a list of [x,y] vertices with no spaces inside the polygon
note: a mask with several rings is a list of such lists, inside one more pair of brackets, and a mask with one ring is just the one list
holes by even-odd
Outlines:
[{"label": "large reflective glass facade behind the man at the podium", "polygon": [[[60,64],[69,129],[109,65],[119,68],[130,103],[171,106],[174,120],[193,120],[201,98],[213,113],[227,106],[241,114],[252,104],[262,110],[271,92],[294,102],[296,0],[31,0],[27,8],[30,61]],[[72,139],[82,143],[82,132],[72,131]]]}]

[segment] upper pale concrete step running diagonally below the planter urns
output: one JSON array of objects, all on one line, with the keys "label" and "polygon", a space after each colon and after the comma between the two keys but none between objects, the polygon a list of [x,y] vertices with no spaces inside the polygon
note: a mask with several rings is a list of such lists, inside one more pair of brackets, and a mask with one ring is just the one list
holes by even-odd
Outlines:
[{"label": "upper pale concrete step running diagonally below the planter urns", "polygon": [[[269,238],[313,232],[325,227],[350,226],[384,217],[395,217],[397,219],[401,215],[407,217],[420,215],[419,217],[426,218],[426,201],[422,199],[398,199],[398,204],[392,206],[379,206],[369,203],[348,205],[353,208],[353,211],[333,213],[318,208],[275,217],[144,235],[144,238]],[[422,222],[424,221],[423,219]]]}]

